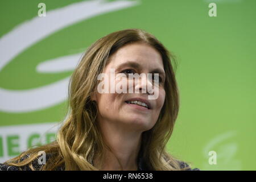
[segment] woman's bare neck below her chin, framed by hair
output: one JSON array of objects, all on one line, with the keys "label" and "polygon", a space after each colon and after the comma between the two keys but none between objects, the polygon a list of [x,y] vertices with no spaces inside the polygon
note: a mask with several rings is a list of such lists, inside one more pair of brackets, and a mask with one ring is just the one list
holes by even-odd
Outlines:
[{"label": "woman's bare neck below her chin, framed by hair", "polygon": [[[104,121],[100,124],[102,137],[109,147],[104,150],[103,166],[100,170],[137,170],[142,133],[127,130],[127,127],[116,126],[111,122]],[[94,164],[97,167],[97,159]]]}]

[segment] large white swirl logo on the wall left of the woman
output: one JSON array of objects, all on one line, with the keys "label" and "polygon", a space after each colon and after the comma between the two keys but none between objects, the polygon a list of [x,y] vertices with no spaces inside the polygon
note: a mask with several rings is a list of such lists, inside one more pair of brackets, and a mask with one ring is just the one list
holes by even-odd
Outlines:
[{"label": "large white swirl logo on the wall left of the woman", "polygon": [[[14,57],[56,31],[81,20],[135,5],[138,5],[138,1],[86,1],[47,11],[47,16],[44,18],[36,16],[15,27],[0,39],[0,71]],[[48,60],[39,64],[36,70],[38,72],[72,70],[75,68],[80,56],[81,53]],[[74,62],[74,60],[76,61]],[[67,99],[68,82],[69,77],[34,89],[10,90],[0,88],[0,110],[19,113],[56,105]]]}]

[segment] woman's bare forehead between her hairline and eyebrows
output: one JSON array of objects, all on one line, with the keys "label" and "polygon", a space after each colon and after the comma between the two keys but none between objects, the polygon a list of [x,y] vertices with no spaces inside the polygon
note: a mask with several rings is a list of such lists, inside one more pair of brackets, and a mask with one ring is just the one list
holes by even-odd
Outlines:
[{"label": "woman's bare forehead between her hairline and eyebrows", "polygon": [[162,56],[154,47],[145,43],[133,43],[119,48],[110,56],[109,67],[118,67],[127,61],[141,64],[144,68],[162,68]]}]

